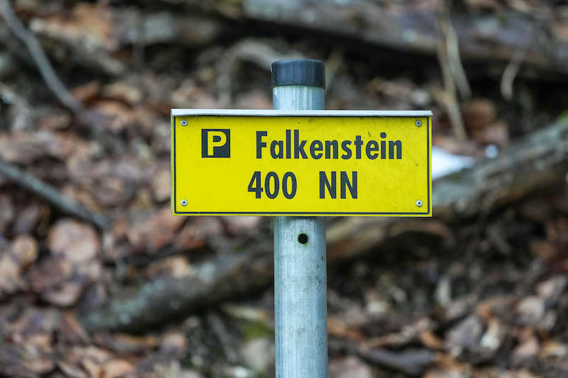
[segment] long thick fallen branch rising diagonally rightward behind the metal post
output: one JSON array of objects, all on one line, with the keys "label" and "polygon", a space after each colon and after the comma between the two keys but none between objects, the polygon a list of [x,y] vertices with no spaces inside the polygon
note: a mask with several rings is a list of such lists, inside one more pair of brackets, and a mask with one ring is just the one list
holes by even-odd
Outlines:
[{"label": "long thick fallen branch rising diagonally rightward behind the metal post", "polygon": [[[495,159],[435,180],[437,221],[353,217],[332,223],[327,230],[329,262],[361,255],[409,230],[449,235],[439,221],[456,223],[477,216],[487,199],[493,206],[508,204],[562,182],[567,171],[568,118],[564,118],[528,135]],[[82,323],[88,330],[148,330],[176,316],[266,288],[273,279],[272,243],[266,235],[245,254],[224,254],[222,259],[197,266],[190,277],[148,282],[133,294],[111,299],[108,306],[86,314]]]}]

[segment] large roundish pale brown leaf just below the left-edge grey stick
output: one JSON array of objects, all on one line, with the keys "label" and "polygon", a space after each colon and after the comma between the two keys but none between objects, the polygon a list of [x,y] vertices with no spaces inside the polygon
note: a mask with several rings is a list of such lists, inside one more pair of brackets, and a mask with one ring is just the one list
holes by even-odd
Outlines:
[{"label": "large roundish pale brown leaf just below the left-edge grey stick", "polygon": [[48,234],[48,247],[55,256],[74,264],[92,260],[99,252],[99,237],[92,226],[63,219],[55,223]]}]

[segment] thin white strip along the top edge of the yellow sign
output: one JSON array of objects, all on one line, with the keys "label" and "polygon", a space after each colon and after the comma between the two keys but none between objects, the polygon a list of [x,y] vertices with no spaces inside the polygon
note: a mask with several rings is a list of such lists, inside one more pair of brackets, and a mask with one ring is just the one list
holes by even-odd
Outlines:
[{"label": "thin white strip along the top edge of the yellow sign", "polygon": [[249,117],[430,117],[432,111],[396,110],[251,110],[251,109],[172,109],[172,116],[249,116]]}]

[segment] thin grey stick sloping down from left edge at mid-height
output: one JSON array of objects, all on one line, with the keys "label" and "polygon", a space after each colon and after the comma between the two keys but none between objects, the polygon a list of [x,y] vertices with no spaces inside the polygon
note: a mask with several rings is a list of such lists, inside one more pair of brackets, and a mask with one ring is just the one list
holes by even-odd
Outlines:
[{"label": "thin grey stick sloping down from left edge at mid-height", "polygon": [[100,215],[90,213],[87,209],[82,207],[70,199],[66,199],[59,191],[51,187],[49,184],[36,179],[35,177],[23,172],[18,167],[11,165],[0,159],[0,174],[7,177],[11,181],[28,189],[29,191],[37,194],[43,199],[47,200],[50,204],[57,207],[63,213],[70,216],[75,216],[94,224],[98,228],[104,229],[107,227],[107,222]]}]

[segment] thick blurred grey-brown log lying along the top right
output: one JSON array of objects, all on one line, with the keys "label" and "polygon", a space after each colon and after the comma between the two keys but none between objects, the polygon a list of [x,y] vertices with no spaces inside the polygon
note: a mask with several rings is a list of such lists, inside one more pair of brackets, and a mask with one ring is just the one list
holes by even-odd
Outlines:
[{"label": "thick blurred grey-brown log lying along the top right", "polygon": [[[162,0],[188,4],[201,11],[268,23],[289,32],[332,35],[332,40],[364,41],[380,48],[435,57],[439,36],[434,11],[386,11],[373,1],[269,1],[246,0],[226,4],[224,0]],[[454,13],[461,59],[467,62],[509,62],[515,51],[527,50],[524,62],[552,72],[568,73],[568,45],[542,28],[542,15],[502,11],[499,16],[484,13]],[[538,35],[542,43],[527,35]],[[536,38],[536,36],[535,36]]]}]

